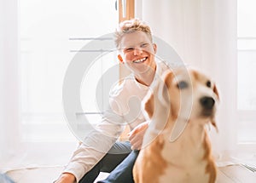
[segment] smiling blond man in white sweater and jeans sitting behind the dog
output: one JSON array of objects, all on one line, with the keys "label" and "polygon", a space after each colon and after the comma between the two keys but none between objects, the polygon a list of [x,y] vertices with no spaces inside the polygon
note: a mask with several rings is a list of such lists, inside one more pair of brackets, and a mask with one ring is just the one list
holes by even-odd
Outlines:
[{"label": "smiling blond man in white sweater and jeans sitting behind the dog", "polygon": [[[90,183],[101,171],[111,172],[101,182],[133,182],[132,167],[148,129],[148,122],[141,112],[141,101],[149,86],[157,80],[156,75],[160,76],[167,66],[155,61],[157,47],[152,41],[150,27],[143,21],[135,19],[120,23],[115,36],[119,61],[131,70],[131,75],[113,89],[109,110],[104,112],[102,122],[73,153],[56,183]],[[116,141],[125,124],[131,129],[129,142]]]}]

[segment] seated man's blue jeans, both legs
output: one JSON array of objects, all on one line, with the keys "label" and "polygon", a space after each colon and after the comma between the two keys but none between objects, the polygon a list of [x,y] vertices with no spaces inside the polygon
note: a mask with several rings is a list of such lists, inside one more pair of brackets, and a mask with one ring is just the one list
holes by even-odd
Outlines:
[{"label": "seated man's blue jeans, both legs", "polygon": [[100,172],[108,172],[106,180],[98,183],[134,183],[132,168],[137,159],[138,151],[131,152],[129,142],[116,142],[111,150],[95,165],[79,183],[93,183]]}]

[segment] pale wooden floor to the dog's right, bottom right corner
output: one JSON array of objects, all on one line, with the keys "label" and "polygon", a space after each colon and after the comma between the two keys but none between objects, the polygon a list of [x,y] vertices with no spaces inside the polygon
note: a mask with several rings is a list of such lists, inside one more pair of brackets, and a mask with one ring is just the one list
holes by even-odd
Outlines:
[{"label": "pale wooden floor to the dog's right, bottom right corner", "polygon": [[256,183],[256,172],[243,165],[218,168],[217,183]]}]

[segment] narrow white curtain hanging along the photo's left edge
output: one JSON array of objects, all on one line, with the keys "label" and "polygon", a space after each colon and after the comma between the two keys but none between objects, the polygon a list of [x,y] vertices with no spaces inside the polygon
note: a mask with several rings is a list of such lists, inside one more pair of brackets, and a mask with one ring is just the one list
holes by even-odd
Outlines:
[{"label": "narrow white curtain hanging along the photo's left edge", "polygon": [[0,1],[0,162],[19,149],[17,1]]}]

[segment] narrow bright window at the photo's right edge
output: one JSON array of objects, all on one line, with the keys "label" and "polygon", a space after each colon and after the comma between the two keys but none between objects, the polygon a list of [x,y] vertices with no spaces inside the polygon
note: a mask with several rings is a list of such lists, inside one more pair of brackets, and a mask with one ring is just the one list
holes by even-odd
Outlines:
[{"label": "narrow bright window at the photo's right edge", "polygon": [[238,142],[256,143],[256,2],[237,1]]}]

